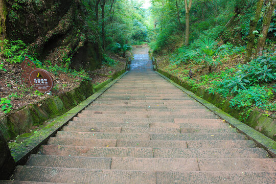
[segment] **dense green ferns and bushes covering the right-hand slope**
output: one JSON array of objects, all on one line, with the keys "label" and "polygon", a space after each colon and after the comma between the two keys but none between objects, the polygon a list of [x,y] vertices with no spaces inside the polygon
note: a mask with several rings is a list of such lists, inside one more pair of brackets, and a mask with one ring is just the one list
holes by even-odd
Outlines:
[{"label": "dense green ferns and bushes covering the right-hand slope", "polygon": [[[250,21],[255,16],[257,2],[192,1],[188,46],[184,45],[187,16],[184,1],[153,0],[151,8],[154,31],[150,45],[155,54],[168,58],[169,65],[165,66],[165,70],[188,81],[192,89],[204,86],[210,93],[228,98],[233,108],[243,109],[243,119],[248,118],[255,107],[276,111],[273,100],[276,81],[273,53],[273,44],[276,43],[275,11],[263,56],[244,62]],[[258,38],[263,36],[260,33],[268,5],[265,1],[256,30],[252,32],[255,34],[255,47]],[[191,77],[189,70],[197,78]]]}]

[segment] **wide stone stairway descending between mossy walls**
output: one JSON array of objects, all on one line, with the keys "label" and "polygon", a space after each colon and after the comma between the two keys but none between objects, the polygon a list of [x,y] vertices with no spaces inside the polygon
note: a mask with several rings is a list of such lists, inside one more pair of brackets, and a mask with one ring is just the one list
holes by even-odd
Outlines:
[{"label": "wide stone stairway descending between mossy walls", "polygon": [[134,55],[131,71],[2,183],[271,183],[276,159]]}]

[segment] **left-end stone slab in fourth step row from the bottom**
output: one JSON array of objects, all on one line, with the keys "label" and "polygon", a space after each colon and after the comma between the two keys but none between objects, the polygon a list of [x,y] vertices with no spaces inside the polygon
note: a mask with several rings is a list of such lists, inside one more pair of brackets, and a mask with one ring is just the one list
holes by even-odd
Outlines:
[{"label": "left-end stone slab in fourth step row from the bottom", "polygon": [[117,140],[98,140],[98,139],[76,139],[50,137],[48,145],[64,145],[64,146],[90,146],[90,147],[116,147]]}]

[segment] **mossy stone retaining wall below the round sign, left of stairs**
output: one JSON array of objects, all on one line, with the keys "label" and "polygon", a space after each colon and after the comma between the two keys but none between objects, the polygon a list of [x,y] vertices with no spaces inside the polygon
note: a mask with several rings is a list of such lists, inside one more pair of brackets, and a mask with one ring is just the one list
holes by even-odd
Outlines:
[{"label": "mossy stone retaining wall below the round sign, left of stairs", "polygon": [[33,125],[59,116],[92,95],[90,81],[83,81],[77,88],[59,96],[30,104],[0,119],[0,130],[7,141],[25,133]]}]

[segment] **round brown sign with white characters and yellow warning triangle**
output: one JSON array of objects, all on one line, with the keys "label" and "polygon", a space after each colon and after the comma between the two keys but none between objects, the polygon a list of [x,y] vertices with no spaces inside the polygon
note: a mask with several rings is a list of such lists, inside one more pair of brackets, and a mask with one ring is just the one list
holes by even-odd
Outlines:
[{"label": "round brown sign with white characters and yellow warning triangle", "polygon": [[35,68],[29,75],[30,84],[41,92],[48,92],[54,86],[54,79],[51,74],[43,69]]}]

